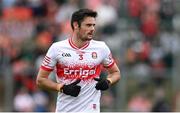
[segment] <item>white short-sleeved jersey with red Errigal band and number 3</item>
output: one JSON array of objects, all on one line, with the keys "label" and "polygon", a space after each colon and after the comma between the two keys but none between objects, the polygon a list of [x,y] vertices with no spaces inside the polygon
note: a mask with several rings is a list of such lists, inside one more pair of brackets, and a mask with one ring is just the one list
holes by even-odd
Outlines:
[{"label": "white short-sleeved jersey with red Errigal band and number 3", "polygon": [[52,44],[41,69],[56,71],[58,83],[70,84],[81,79],[81,91],[77,97],[58,93],[56,112],[100,112],[101,92],[96,90],[96,81],[101,67],[109,68],[114,64],[110,49],[102,41],[91,40],[82,48],[77,48],[72,39]]}]

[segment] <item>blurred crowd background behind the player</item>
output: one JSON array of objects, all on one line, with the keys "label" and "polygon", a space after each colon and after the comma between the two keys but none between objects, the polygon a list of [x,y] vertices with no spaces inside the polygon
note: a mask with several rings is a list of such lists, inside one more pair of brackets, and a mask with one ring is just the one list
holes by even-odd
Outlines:
[{"label": "blurred crowd background behind the player", "polygon": [[0,0],[0,111],[54,111],[57,94],[35,79],[50,45],[70,36],[79,8],[98,12],[95,39],[121,69],[101,111],[180,112],[180,0]]}]

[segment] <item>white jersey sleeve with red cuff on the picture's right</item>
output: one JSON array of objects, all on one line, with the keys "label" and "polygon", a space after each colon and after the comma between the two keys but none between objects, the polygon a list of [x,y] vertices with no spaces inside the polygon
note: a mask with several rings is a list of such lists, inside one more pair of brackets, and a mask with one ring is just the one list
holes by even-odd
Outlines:
[{"label": "white jersey sleeve with red cuff on the picture's right", "polygon": [[109,47],[105,43],[104,43],[104,48],[103,48],[103,54],[104,54],[104,58],[103,58],[103,62],[102,62],[103,66],[105,68],[112,67],[114,64],[114,59],[112,57]]}]

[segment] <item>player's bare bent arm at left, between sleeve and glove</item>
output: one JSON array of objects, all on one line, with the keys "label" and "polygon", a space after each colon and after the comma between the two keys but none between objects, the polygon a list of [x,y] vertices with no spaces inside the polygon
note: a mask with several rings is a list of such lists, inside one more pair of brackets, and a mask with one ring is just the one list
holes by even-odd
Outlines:
[{"label": "player's bare bent arm at left, between sleeve and glove", "polygon": [[54,90],[54,91],[60,91],[60,89],[63,87],[63,84],[56,83],[56,82],[48,79],[48,76],[50,73],[51,73],[50,71],[45,71],[40,68],[38,75],[37,75],[36,84],[40,88]]}]

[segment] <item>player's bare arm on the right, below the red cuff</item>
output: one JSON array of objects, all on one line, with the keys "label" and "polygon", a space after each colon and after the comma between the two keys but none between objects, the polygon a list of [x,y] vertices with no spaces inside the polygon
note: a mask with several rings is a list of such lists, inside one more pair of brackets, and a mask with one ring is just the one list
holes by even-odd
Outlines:
[{"label": "player's bare arm on the right, below the red cuff", "polygon": [[116,64],[114,64],[111,68],[107,68],[108,76],[107,79],[111,82],[111,85],[118,82],[121,78],[120,70]]}]

